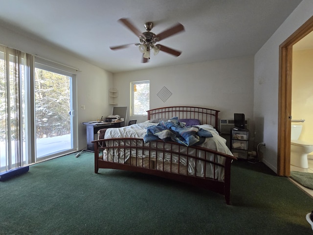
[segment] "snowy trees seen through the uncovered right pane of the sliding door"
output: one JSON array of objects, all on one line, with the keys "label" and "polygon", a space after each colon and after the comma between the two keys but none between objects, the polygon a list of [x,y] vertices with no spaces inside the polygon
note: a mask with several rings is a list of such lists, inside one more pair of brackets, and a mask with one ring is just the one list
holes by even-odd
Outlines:
[{"label": "snowy trees seen through the uncovered right pane of the sliding door", "polygon": [[70,77],[35,69],[36,139],[70,134]]}]

